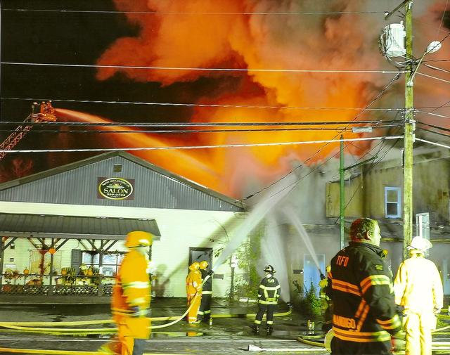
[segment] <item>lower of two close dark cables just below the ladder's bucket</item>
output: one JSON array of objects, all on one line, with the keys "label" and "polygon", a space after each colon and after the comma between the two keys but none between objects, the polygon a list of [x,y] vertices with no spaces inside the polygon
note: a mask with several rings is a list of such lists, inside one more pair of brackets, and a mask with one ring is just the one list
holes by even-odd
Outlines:
[{"label": "lower of two close dark cables just below the ladder's bucket", "polygon": [[[371,126],[366,126],[371,127]],[[398,124],[383,124],[380,126],[373,126],[373,129],[381,129],[386,127],[399,127]],[[352,129],[345,129],[346,131],[352,131]],[[27,134],[33,133],[56,133],[56,134],[69,134],[69,133],[95,133],[95,134],[135,134],[135,133],[153,133],[153,134],[186,134],[186,133],[253,133],[253,132],[267,132],[267,131],[342,131],[342,127],[326,128],[326,127],[314,127],[314,128],[268,128],[268,129],[162,129],[162,130],[126,130],[126,131],[108,131],[102,129],[70,129],[68,131],[60,131],[59,129],[32,129],[30,131],[26,129],[15,130],[16,132],[27,132]],[[0,129],[0,132],[10,132],[11,129]]]}]

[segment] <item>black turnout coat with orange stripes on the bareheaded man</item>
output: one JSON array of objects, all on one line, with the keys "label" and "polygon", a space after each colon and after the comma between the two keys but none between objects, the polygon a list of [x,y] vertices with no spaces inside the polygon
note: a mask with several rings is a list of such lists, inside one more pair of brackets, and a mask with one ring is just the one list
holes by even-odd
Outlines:
[{"label": "black turnout coat with orange stripes on the bareheaded man", "polygon": [[327,295],[335,336],[350,342],[385,342],[401,329],[392,272],[380,247],[350,242],[331,260]]}]

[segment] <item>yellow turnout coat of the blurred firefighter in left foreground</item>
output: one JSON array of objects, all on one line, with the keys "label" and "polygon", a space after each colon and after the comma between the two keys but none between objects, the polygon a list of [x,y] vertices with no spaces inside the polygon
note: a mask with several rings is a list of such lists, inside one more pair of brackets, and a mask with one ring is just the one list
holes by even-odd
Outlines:
[{"label": "yellow turnout coat of the blurred firefighter in left foreground", "polygon": [[127,316],[138,306],[141,316],[150,307],[150,278],[146,272],[148,258],[137,250],[125,254],[113,287],[111,309],[113,314]]}]

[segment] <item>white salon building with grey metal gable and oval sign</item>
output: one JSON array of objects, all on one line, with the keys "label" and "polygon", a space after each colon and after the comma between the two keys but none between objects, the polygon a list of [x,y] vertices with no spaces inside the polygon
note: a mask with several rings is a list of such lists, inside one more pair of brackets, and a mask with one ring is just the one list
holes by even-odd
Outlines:
[{"label": "white salon building with grey metal gable and oval sign", "polygon": [[[205,250],[212,256],[217,240],[242,221],[240,212],[240,201],[129,153],[96,155],[0,184],[0,274],[32,268],[30,245],[41,254],[56,250],[60,262],[51,254],[51,268],[58,272],[78,268],[84,253],[101,259],[123,252],[127,233],[141,230],[157,240],[152,257],[164,282],[160,295],[184,297],[188,262]],[[226,285],[217,292],[224,295]]]}]

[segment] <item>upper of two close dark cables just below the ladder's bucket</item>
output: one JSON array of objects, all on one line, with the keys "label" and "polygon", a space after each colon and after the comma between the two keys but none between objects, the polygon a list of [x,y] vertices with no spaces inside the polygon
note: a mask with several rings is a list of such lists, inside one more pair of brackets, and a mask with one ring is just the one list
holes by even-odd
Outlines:
[{"label": "upper of two close dark cables just below the ladder's bucket", "polygon": [[[26,122],[32,126],[101,126],[101,127],[228,127],[228,126],[316,126],[318,124],[390,124],[399,120],[364,120],[364,121],[304,121],[304,122]],[[17,121],[5,121],[1,124],[18,124]]]}]

